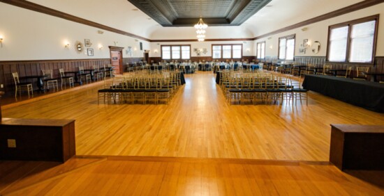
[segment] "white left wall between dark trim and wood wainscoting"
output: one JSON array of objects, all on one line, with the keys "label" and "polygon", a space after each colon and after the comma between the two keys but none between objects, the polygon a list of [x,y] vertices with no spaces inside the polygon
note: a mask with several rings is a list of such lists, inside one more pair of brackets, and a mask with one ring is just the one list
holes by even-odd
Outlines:
[{"label": "white left wall between dark trim and wood wainscoting", "polygon": [[[58,17],[52,17],[31,10],[0,3],[0,35],[3,47],[0,47],[0,60],[50,60],[110,58],[108,46],[128,46],[136,48],[132,57],[142,57],[144,49],[150,49],[149,42],[138,40],[109,31],[98,34],[98,28],[78,24]],[[84,44],[84,39],[92,42],[94,56],[79,54],[75,42]],[[70,47],[64,45],[68,42]],[[143,51],[140,51],[140,42]],[[102,45],[103,49],[98,49]],[[87,51],[87,48],[84,50]],[[123,57],[130,57],[125,52]]]}]

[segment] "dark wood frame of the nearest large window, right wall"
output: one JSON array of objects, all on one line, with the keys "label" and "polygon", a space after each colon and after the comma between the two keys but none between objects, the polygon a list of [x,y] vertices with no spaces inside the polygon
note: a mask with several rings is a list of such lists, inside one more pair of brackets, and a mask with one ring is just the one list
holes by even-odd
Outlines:
[{"label": "dark wood frame of the nearest large window, right wall", "polygon": [[[370,64],[374,65],[375,63],[375,55],[376,55],[376,47],[377,47],[377,38],[378,38],[378,19],[379,15],[371,15],[369,17],[363,17],[360,19],[354,19],[348,22],[342,22],[339,24],[334,24],[328,26],[328,35],[327,35],[327,55],[326,55],[326,61],[330,63],[353,63],[353,64]],[[350,61],[350,44],[351,44],[351,32],[352,32],[352,26],[355,24],[362,24],[364,22],[371,22],[371,21],[376,21],[375,22],[375,30],[374,30],[374,44],[372,47],[372,56],[371,56],[371,61],[370,62],[353,62]],[[344,61],[330,61],[330,35],[331,31],[334,28],[341,28],[344,26],[348,26],[348,37],[347,37],[347,47],[346,47],[346,60]]]}]

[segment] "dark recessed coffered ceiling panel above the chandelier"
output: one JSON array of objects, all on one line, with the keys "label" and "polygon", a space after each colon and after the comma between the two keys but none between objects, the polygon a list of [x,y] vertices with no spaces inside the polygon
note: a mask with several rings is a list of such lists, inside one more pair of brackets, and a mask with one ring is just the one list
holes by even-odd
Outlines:
[{"label": "dark recessed coffered ceiling panel above the chandelier", "polygon": [[162,26],[239,26],[272,0],[128,0]]}]

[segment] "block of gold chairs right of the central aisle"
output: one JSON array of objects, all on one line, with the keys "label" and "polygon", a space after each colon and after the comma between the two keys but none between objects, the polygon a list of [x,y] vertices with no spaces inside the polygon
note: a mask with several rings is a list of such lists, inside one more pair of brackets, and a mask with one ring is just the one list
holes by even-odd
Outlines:
[{"label": "block of gold chairs right of the central aisle", "polygon": [[221,88],[228,99],[239,104],[283,104],[283,101],[295,102],[303,100],[308,105],[308,90],[295,88],[292,76],[276,72],[224,72]]}]

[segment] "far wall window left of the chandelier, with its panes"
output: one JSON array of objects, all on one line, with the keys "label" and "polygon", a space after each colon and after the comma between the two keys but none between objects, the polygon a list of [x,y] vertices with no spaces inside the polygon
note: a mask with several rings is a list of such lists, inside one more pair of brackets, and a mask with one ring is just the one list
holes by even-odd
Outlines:
[{"label": "far wall window left of the chandelier, with its panes", "polygon": [[161,58],[168,60],[189,59],[191,58],[191,45],[162,45]]}]

